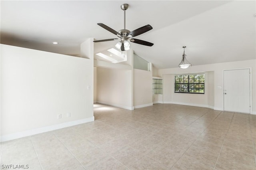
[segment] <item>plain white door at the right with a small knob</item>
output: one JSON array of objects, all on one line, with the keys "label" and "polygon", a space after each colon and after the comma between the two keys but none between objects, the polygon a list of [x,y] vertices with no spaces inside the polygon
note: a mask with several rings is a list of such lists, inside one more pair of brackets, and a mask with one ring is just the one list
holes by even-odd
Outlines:
[{"label": "plain white door at the right with a small knob", "polygon": [[250,69],[224,71],[224,111],[250,113]]}]

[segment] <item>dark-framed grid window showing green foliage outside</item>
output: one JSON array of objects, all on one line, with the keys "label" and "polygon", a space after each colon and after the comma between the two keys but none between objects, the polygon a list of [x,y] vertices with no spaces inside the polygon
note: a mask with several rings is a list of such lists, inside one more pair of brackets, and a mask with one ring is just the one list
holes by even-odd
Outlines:
[{"label": "dark-framed grid window showing green foliage outside", "polygon": [[174,93],[204,94],[204,74],[176,75]]}]

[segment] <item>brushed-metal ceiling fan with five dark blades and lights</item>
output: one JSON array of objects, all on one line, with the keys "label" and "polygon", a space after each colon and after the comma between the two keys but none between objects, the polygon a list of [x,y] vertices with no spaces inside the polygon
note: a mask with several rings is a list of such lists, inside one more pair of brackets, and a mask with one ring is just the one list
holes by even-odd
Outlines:
[{"label": "brushed-metal ceiling fan with five dark blades and lights", "polygon": [[126,50],[130,49],[130,43],[128,41],[138,43],[138,44],[141,44],[141,45],[147,45],[147,46],[150,46],[150,47],[152,45],[154,45],[153,43],[133,38],[135,36],[138,36],[140,34],[148,32],[149,30],[152,30],[153,29],[152,26],[146,25],[146,26],[140,27],[136,30],[133,30],[132,32],[125,29],[125,11],[128,9],[128,6],[129,6],[128,4],[122,4],[121,5],[121,9],[124,10],[124,29],[119,30],[117,32],[117,31],[113,30],[112,28],[110,28],[110,27],[108,27],[108,26],[106,26],[102,23],[98,23],[99,26],[108,30],[109,32],[112,32],[113,34],[118,36],[118,38],[112,38],[112,39],[106,39],[106,40],[97,40],[97,41],[93,41],[93,42],[106,42],[106,41],[120,40],[120,42],[118,42],[116,44],[116,48],[118,48],[118,49],[121,48],[121,51],[126,51]]}]

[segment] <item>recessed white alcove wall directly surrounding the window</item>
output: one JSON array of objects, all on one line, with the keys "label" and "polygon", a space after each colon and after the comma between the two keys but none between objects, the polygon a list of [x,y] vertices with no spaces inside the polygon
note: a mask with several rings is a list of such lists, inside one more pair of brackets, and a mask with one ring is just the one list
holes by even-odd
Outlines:
[{"label": "recessed white alcove wall directly surrounding the window", "polygon": [[214,101],[214,95],[212,95],[212,91],[214,91],[214,88],[213,85],[211,85],[213,82],[213,76],[209,76],[208,72],[204,73],[204,94],[174,93],[174,76],[174,74],[163,75],[164,103],[193,105],[199,107],[209,107],[213,109],[212,101]]}]

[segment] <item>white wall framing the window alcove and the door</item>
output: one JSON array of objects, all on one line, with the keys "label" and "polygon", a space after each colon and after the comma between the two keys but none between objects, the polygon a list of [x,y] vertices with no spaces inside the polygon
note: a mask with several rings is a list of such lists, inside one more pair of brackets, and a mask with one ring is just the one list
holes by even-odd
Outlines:
[{"label": "white wall framing the window alcove and the door", "polygon": [[[228,63],[216,63],[216,64],[208,64],[208,65],[195,65],[189,67],[188,69],[180,69],[180,68],[171,68],[171,69],[160,69],[159,75],[166,74],[179,74],[179,73],[198,73],[198,72],[208,72],[212,71],[209,77],[214,77],[214,109],[216,110],[223,110],[223,89],[218,89],[217,87],[223,87],[223,71],[226,69],[238,69],[238,68],[252,68],[252,113],[255,114],[256,112],[256,60],[246,60],[246,61],[235,61],[235,62],[228,62]],[[214,74],[214,76],[212,75]],[[212,79],[212,78],[211,78]],[[210,80],[211,82],[212,80]],[[165,82],[165,80],[164,80]],[[210,83],[209,82],[209,83]],[[209,84],[208,83],[208,84]],[[168,85],[164,85],[164,93],[165,87]],[[209,93],[210,94],[210,93]],[[189,95],[189,94],[185,94]],[[194,95],[194,94],[191,94]],[[170,96],[169,96],[170,97]],[[164,99],[167,99],[164,95]],[[208,105],[212,105],[213,99],[208,98]],[[174,101],[174,99],[173,99]],[[205,103],[200,103],[204,105]]]}]

